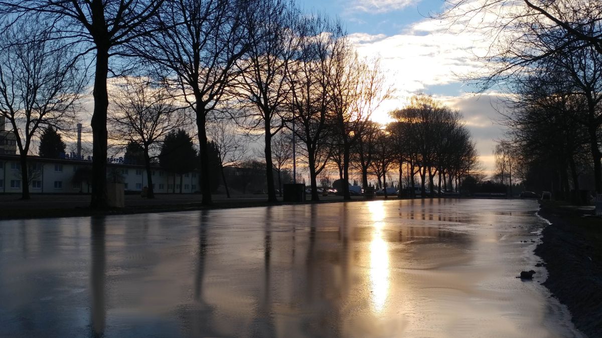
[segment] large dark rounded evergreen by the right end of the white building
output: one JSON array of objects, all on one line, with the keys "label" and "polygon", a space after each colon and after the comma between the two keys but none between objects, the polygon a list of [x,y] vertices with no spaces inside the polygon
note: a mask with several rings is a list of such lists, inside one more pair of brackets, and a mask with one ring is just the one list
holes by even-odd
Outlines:
[{"label": "large dark rounded evergreen by the right end of the white building", "polygon": [[161,146],[159,163],[165,170],[180,175],[180,193],[182,192],[182,175],[194,170],[196,159],[194,143],[184,129],[167,134]]}]

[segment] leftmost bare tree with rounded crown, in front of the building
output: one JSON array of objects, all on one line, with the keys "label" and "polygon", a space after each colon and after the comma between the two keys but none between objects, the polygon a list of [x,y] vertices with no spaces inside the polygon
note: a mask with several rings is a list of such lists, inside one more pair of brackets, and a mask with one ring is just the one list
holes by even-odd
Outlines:
[{"label": "leftmost bare tree with rounded crown, in front of the building", "polygon": [[16,138],[23,200],[29,199],[27,155],[41,128],[73,127],[84,76],[72,50],[49,28],[19,21],[0,35],[0,116]]}]

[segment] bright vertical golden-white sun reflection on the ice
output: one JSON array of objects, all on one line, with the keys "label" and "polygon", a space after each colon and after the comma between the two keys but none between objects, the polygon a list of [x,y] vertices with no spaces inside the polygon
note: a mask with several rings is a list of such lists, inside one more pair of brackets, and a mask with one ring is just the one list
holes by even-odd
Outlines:
[{"label": "bright vertical golden-white sun reflection on the ice", "polygon": [[370,286],[375,312],[382,312],[389,292],[389,245],[383,239],[384,201],[368,203],[374,232],[370,242]]}]

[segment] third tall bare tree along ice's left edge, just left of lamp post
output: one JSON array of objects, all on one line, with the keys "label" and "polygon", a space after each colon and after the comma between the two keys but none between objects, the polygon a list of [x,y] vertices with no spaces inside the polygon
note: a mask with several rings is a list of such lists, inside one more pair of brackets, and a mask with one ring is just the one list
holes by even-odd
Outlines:
[{"label": "third tall bare tree along ice's left edge, just left of lamp post", "polygon": [[272,137],[284,128],[290,93],[287,69],[299,49],[300,13],[288,0],[261,0],[246,20],[249,49],[240,63],[238,95],[250,106],[252,128],[264,135],[268,201],[275,202]]}]

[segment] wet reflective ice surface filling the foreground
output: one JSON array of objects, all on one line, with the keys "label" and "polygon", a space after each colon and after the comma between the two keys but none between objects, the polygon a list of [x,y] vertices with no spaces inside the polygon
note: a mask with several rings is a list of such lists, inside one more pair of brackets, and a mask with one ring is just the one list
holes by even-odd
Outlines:
[{"label": "wet reflective ice surface filling the foreground", "polygon": [[[537,207],[376,200],[2,221],[0,336],[579,336],[539,285]],[[534,281],[515,278],[529,269]]]}]

